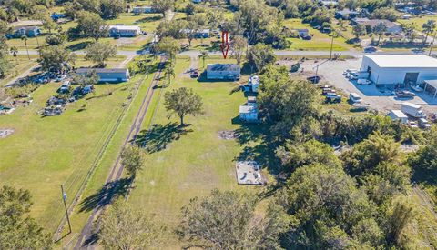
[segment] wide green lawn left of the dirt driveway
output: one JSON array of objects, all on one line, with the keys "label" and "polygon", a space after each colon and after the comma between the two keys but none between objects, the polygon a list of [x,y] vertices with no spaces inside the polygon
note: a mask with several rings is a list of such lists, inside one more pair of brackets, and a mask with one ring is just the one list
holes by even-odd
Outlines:
[{"label": "wide green lawn left of the dirt driveway", "polygon": [[[70,204],[121,114],[135,80],[97,85],[96,95],[68,105],[63,115],[44,118],[37,112],[60,84],[42,85],[32,95],[31,105],[0,116],[0,129],[15,130],[0,139],[0,183],[30,190],[34,202],[31,215],[48,232],[55,231],[64,214],[60,185],[66,185]],[[79,112],[84,104],[86,110]]]}]

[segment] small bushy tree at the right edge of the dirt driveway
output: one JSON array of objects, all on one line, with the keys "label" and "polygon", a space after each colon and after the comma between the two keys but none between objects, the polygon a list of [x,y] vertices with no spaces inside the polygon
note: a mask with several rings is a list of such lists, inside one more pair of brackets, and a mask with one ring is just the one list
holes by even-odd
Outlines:
[{"label": "small bushy tree at the right edge of the dirt driveway", "polygon": [[142,169],[145,159],[140,146],[127,146],[121,153],[121,165],[123,165],[127,173],[135,179],[137,172]]}]

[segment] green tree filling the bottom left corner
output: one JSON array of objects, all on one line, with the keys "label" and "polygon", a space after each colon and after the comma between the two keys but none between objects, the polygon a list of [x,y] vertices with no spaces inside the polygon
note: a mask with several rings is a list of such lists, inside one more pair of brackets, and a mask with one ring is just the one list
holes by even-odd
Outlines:
[{"label": "green tree filling the bottom left corner", "polygon": [[0,189],[0,249],[50,249],[52,240],[28,214],[32,205],[27,190]]}]

